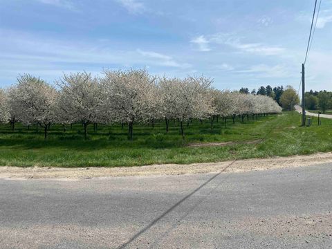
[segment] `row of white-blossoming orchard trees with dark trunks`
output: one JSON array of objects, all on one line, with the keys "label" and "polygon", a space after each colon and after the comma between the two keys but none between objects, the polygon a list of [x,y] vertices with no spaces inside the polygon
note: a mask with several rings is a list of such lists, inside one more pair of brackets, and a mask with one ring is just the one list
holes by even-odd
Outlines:
[{"label": "row of white-blossoming orchard trees with dark trunks", "polygon": [[183,123],[190,119],[233,118],[282,109],[272,98],[213,89],[212,80],[203,76],[184,79],[156,77],[145,70],[104,71],[103,77],[90,73],[65,74],[55,86],[39,77],[20,75],[17,84],[0,89],[0,122],[37,124],[47,137],[50,124],[82,122],[85,138],[89,124],[128,124],[133,138],[135,122],[169,120]]}]

